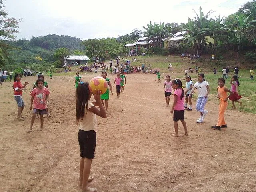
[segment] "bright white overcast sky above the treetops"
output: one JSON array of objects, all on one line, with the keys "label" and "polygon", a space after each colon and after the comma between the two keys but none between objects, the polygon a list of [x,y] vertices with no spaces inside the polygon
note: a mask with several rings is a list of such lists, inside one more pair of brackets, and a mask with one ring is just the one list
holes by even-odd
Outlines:
[{"label": "bright white overcast sky above the treetops", "polygon": [[16,38],[57,34],[82,40],[118,37],[161,22],[186,23],[199,6],[206,14],[228,16],[248,0],[4,0],[8,17],[21,19]]}]

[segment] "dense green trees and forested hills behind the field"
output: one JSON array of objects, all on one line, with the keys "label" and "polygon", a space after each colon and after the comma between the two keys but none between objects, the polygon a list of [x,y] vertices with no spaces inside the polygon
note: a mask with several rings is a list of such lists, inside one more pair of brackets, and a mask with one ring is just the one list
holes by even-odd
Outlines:
[{"label": "dense green trees and forested hills behind the field", "polygon": [[[152,42],[150,49],[141,48],[140,51],[147,55],[173,54],[190,52],[192,54],[215,54],[216,58],[224,59],[224,54],[230,52],[232,58],[256,62],[256,1],[247,2],[234,14],[227,17],[218,16],[210,18],[214,12],[210,10],[204,14],[202,8],[194,10],[195,17],[188,18],[187,23],[150,22],[143,26],[144,31],[133,29],[130,34],[117,38],[94,38],[80,40],[66,35],[47,35],[15,40],[14,34],[21,20],[8,18],[8,13],[3,10],[4,5],[0,0],[0,66],[7,70],[29,67],[34,70],[48,70],[62,65],[66,56],[71,54],[86,54],[89,58],[114,58],[126,55],[128,48],[125,44],[133,43],[142,36]],[[163,48],[167,37],[181,30],[187,33],[182,42],[169,42]],[[208,38],[214,43],[208,42]],[[140,54],[140,51],[138,54]]]}]

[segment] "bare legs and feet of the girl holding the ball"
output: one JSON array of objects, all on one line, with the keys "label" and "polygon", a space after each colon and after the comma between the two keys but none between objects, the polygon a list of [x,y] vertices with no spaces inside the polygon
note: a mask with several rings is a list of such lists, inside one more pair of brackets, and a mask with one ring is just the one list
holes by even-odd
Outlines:
[{"label": "bare legs and feet of the girl holding the ball", "polygon": [[96,188],[88,187],[88,182],[93,180],[93,178],[89,178],[91,164],[92,164],[92,159],[81,158],[80,160],[80,186],[82,186],[82,191],[84,192],[96,191]]}]

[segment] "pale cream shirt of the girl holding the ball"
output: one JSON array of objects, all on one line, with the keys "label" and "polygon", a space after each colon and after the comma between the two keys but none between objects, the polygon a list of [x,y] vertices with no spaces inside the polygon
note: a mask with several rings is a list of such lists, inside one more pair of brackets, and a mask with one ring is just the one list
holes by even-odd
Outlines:
[{"label": "pale cream shirt of the girl holding the ball", "polygon": [[92,102],[88,102],[88,111],[86,114],[86,108],[84,111],[84,118],[83,120],[80,122],[80,127],[79,129],[83,130],[83,131],[91,131],[94,130],[95,132],[97,132],[97,118],[96,118],[96,114],[90,112],[90,108],[94,106],[94,104],[92,104]]}]

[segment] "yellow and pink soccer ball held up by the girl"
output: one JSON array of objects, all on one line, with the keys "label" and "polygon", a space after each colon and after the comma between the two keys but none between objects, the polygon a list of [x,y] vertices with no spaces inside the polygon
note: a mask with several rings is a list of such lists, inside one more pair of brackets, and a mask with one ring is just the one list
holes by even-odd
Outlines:
[{"label": "yellow and pink soccer ball held up by the girl", "polygon": [[94,77],[89,82],[89,90],[96,93],[97,90],[104,94],[108,89],[108,82],[103,77]]}]

